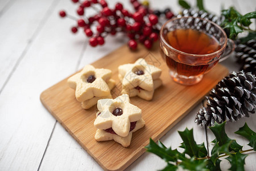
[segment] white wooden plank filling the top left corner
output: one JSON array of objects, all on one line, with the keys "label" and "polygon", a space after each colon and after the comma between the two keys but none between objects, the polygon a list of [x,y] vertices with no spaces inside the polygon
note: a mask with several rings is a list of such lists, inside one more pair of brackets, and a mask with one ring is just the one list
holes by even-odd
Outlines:
[{"label": "white wooden plank filling the top left corner", "polygon": [[[0,17],[0,93],[10,73],[15,69],[42,28],[53,0],[11,0],[15,2]],[[26,10],[27,9],[27,10]]]}]

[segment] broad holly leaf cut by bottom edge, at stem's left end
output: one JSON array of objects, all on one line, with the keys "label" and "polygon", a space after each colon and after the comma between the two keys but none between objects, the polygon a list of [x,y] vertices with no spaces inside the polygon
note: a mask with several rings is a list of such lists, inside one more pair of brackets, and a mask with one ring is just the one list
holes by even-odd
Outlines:
[{"label": "broad holly leaf cut by bottom edge, at stem's left end", "polygon": [[206,165],[208,163],[207,159],[204,160],[195,160],[194,157],[186,158],[180,163],[180,166],[184,169],[195,170],[195,171],[203,171],[209,170]]}]

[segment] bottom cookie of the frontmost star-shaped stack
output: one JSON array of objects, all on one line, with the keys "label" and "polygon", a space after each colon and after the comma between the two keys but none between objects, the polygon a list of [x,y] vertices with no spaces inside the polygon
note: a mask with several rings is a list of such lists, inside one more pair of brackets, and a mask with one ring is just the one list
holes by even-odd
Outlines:
[{"label": "bottom cookie of the frontmost star-shaped stack", "polygon": [[126,136],[126,137],[118,136],[118,135],[116,135],[115,132],[110,133],[110,132],[107,132],[107,131],[102,130],[102,129],[97,129],[95,139],[96,139],[96,141],[114,140],[117,143],[123,145],[124,147],[127,147],[131,144],[132,133],[137,131],[138,129],[144,127],[144,125],[145,125],[145,121],[143,119],[140,119],[140,120],[136,121],[135,127],[133,127],[134,129],[132,129],[129,132],[128,136]]}]

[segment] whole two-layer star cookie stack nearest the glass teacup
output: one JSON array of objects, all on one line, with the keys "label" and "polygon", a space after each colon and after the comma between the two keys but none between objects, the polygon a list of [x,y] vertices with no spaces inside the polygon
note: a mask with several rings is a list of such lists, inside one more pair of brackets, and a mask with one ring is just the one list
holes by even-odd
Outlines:
[{"label": "whole two-layer star cookie stack nearest the glass teacup", "polygon": [[[128,93],[131,97],[138,95],[142,99],[151,100],[154,89],[162,84],[159,81],[160,68],[147,64],[143,58],[138,59],[133,64],[121,65],[118,69],[123,88],[122,93]],[[157,80],[156,86],[154,86],[154,80]],[[137,91],[136,89],[143,91]],[[134,92],[131,93],[133,90]]]}]

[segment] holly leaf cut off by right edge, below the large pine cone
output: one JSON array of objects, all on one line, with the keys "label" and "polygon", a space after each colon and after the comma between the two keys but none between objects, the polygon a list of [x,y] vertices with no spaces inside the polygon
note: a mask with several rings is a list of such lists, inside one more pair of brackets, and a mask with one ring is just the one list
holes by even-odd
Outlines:
[{"label": "holly leaf cut off by right edge, below the large pine cone", "polygon": [[249,140],[250,143],[248,145],[251,146],[254,150],[256,150],[256,132],[251,130],[246,123],[245,125],[243,125],[243,127],[239,128],[239,130],[235,133]]}]

